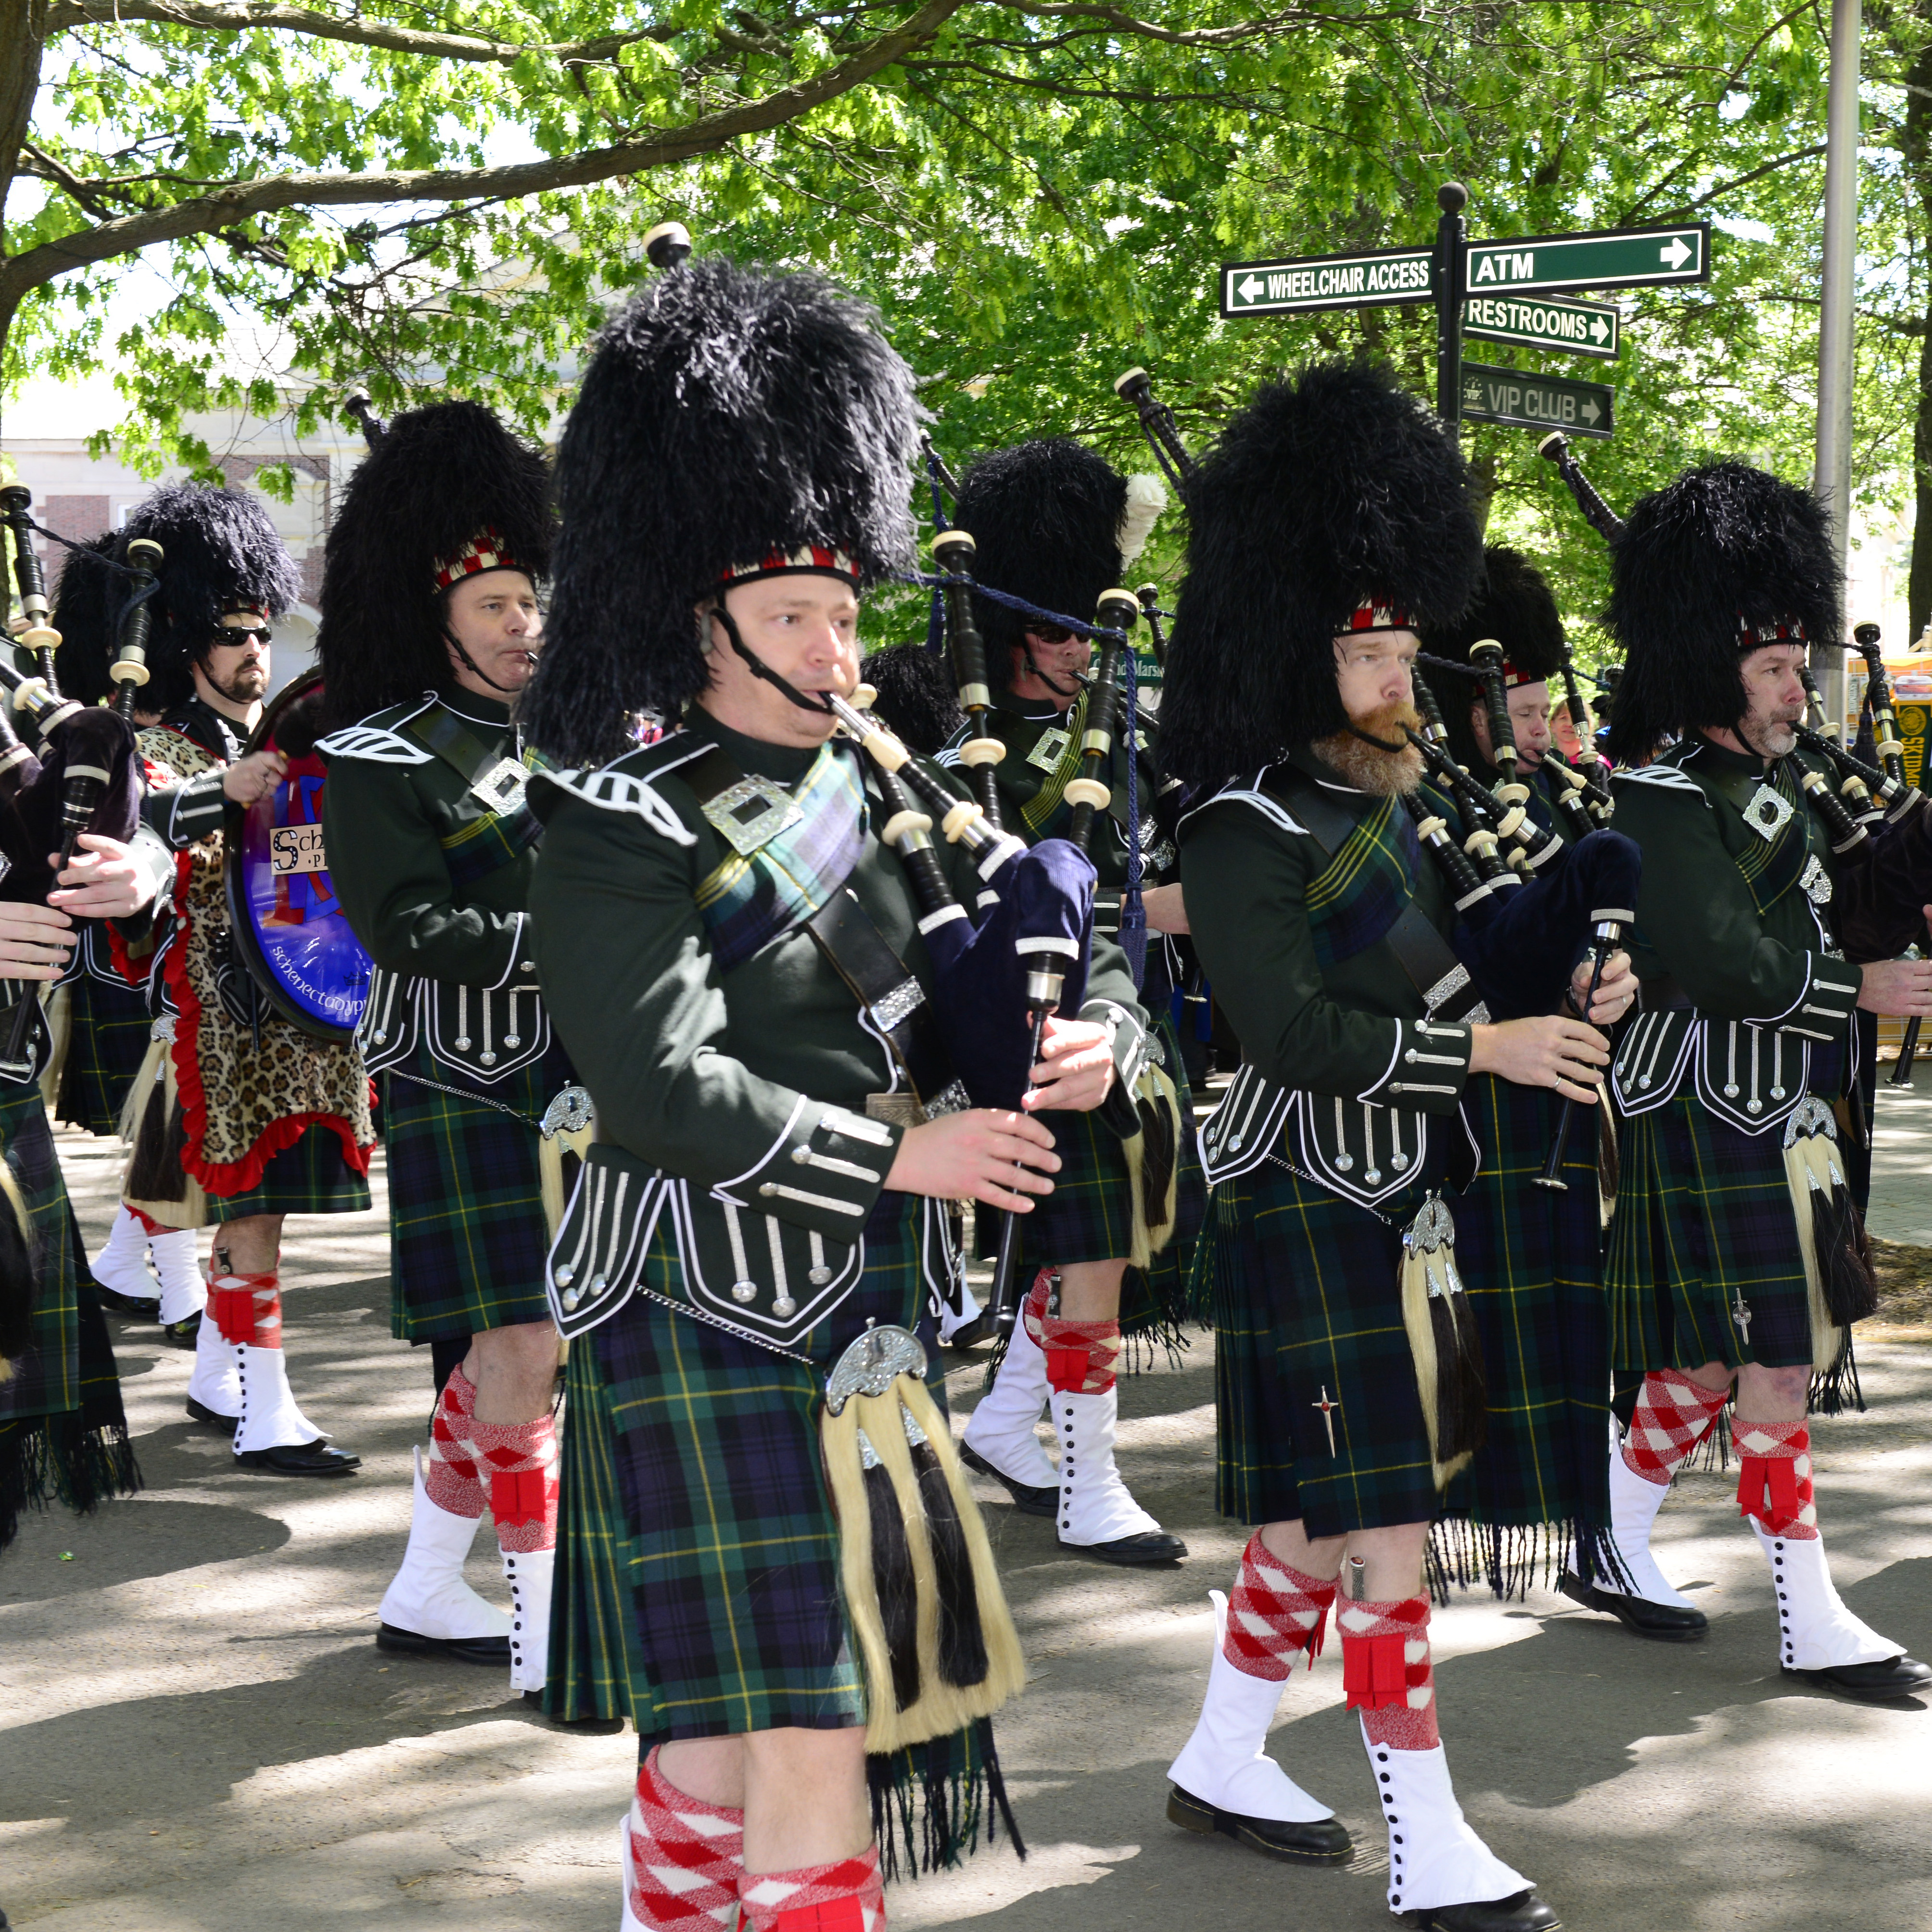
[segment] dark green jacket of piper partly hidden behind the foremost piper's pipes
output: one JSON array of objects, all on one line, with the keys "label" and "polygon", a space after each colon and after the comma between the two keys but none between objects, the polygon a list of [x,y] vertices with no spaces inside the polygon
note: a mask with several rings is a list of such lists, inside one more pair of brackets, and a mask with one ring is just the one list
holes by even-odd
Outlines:
[{"label": "dark green jacket of piper partly hidden behind the foremost piper's pipes", "polygon": [[[1014,697],[999,692],[987,713],[987,736],[999,738],[1007,755],[993,769],[999,773],[999,808],[1009,833],[1037,844],[1041,838],[1065,838],[1074,808],[1066,804],[1066,781],[1080,773],[1080,738],[1086,732],[1092,692],[1082,690],[1070,711],[1055,711],[1049,703]],[[972,775],[958,761],[958,748],[972,736],[962,724],[952,742],[939,753],[952,782],[972,796]],[[1177,852],[1173,840],[1159,829],[1157,802],[1173,790],[1163,779],[1155,757],[1153,726],[1140,715],[1136,746],[1136,806],[1140,808],[1142,885],[1165,885],[1175,877]],[[1097,891],[1094,898],[1094,929],[1121,929],[1121,893],[1126,887],[1126,744],[1119,721],[1113,730],[1113,750],[1103,782],[1113,794],[1107,811],[1095,815],[1088,858],[1094,860]]]}]

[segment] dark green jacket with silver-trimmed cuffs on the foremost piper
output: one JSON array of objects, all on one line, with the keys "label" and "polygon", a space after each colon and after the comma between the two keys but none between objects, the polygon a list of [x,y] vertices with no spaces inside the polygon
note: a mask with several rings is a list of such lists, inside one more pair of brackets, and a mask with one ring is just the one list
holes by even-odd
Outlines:
[{"label": "dark green jacket with silver-trimmed cuffs on the foremost piper", "polygon": [[[860,1007],[802,923],[721,970],[701,906],[715,912],[744,869],[717,823],[726,798],[713,798],[707,815],[680,777],[715,746],[788,794],[817,765],[813,750],[744,738],[694,707],[684,728],[601,771],[535,777],[545,838],[529,910],[545,995],[597,1103],[601,1146],[580,1202],[605,1171],[605,1148],[628,1157],[611,1171],[634,1190],[636,1238],[595,1235],[595,1252],[616,1256],[597,1267],[595,1320],[636,1287],[641,1229],[668,1213],[692,1302],[788,1345],[856,1283],[860,1235],[906,1132],[893,1117],[904,1107],[875,1095],[904,1088],[881,1039],[891,1014]],[[844,887],[929,995],[923,908],[879,838],[889,811],[875,775],[854,746],[835,755],[858,775],[866,827]],[[980,879],[964,848],[943,838],[935,848],[954,893],[974,904]],[[910,1003],[908,991],[893,1005]],[[1138,1063],[1146,1016],[1126,962],[1105,943],[1094,949],[1082,1018],[1113,1022],[1117,1061]],[[607,1182],[612,1198],[616,1184]],[[564,1265],[570,1244],[566,1225]],[[591,1308],[572,1298],[585,1271],[574,1269],[576,1289],[554,1277],[566,1329],[589,1325]]]}]

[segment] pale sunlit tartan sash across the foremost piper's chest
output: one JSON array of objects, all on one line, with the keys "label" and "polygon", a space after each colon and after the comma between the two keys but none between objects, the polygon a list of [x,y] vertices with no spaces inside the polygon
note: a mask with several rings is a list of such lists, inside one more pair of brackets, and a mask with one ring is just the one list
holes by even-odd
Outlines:
[{"label": "pale sunlit tartan sash across the foremost piper's chest", "polygon": [[858,748],[819,746],[792,790],[794,817],[755,852],[726,852],[697,883],[697,912],[721,974],[813,918],[866,850]]}]

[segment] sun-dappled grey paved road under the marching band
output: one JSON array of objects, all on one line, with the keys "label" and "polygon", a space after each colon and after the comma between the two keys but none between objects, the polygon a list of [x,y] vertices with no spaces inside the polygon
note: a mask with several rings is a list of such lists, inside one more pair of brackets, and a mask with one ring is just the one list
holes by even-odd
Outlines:
[{"label": "sun-dappled grey paved road under the marching band", "polygon": [[[1928,1240],[1932,1097],[1888,1097],[1882,1128],[1874,1225]],[[99,1240],[118,1157],[83,1136],[62,1151]],[[296,1385],[363,1474],[236,1476],[182,1418],[187,1358],[118,1329],[147,1493],[31,1520],[0,1561],[0,1905],[33,1932],[612,1932],[636,1741],[553,1731],[493,1673],[371,1642],[429,1372],[388,1339],[381,1213],[296,1229]],[[1870,1414],[1818,1432],[1826,1532],[1853,1607],[1932,1656],[1932,1350],[1862,1358]],[[956,1410],[976,1385],[952,1376]],[[1211,1345],[1122,1389],[1122,1466],[1192,1561],[1136,1577],[1063,1557],[1049,1524],[987,1492],[1032,1663],[1001,1723],[1032,1857],[1001,1847],[898,1888],[893,1922],[1383,1928],[1385,1849],[1333,1650],[1293,1683],[1273,1748],[1356,1832],[1352,1868],[1275,1866],[1161,1818],[1206,1681],[1206,1592],[1242,1536],[1213,1515]],[[1578,1932],[1926,1932],[1932,1710],[1776,1675],[1770,1588],[1723,1476],[1683,1480],[1660,1542],[1712,1615],[1704,1644],[1640,1644],[1544,1592],[1439,1617],[1478,1828]],[[487,1546],[473,1580],[500,1596]]]}]

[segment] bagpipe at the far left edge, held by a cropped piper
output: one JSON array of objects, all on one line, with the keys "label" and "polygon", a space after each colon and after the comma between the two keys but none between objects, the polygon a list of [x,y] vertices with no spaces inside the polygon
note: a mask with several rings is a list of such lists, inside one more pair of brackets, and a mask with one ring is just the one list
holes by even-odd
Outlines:
[{"label": "bagpipe at the far left edge, held by a cropped piper", "polygon": [[[129,711],[135,690],[147,678],[147,605],[156,589],[153,564],[160,560],[160,547],[141,539],[128,545],[122,560],[89,558],[89,568],[128,578],[129,599],[120,618],[114,703],[75,703],[60,694],[54,676],[60,632],[50,622],[46,580],[33,549],[33,535],[41,526],[29,516],[31,502],[29,491],[19,483],[0,491],[0,518],[14,539],[14,587],[25,616],[17,641],[37,667],[35,672],[23,672],[0,661],[0,686],[6,690],[6,703],[0,707],[0,860],[6,862],[0,900],[12,904],[46,904],[56,873],[71,862],[83,833],[122,844],[135,835],[141,763]],[[50,531],[41,533],[52,537]],[[31,724],[31,748],[10,713]],[[50,854],[58,858],[50,860]],[[0,1053],[0,1080],[19,1082],[33,1078],[41,997],[37,981],[14,981],[10,989],[15,997],[6,1049]]]}]

